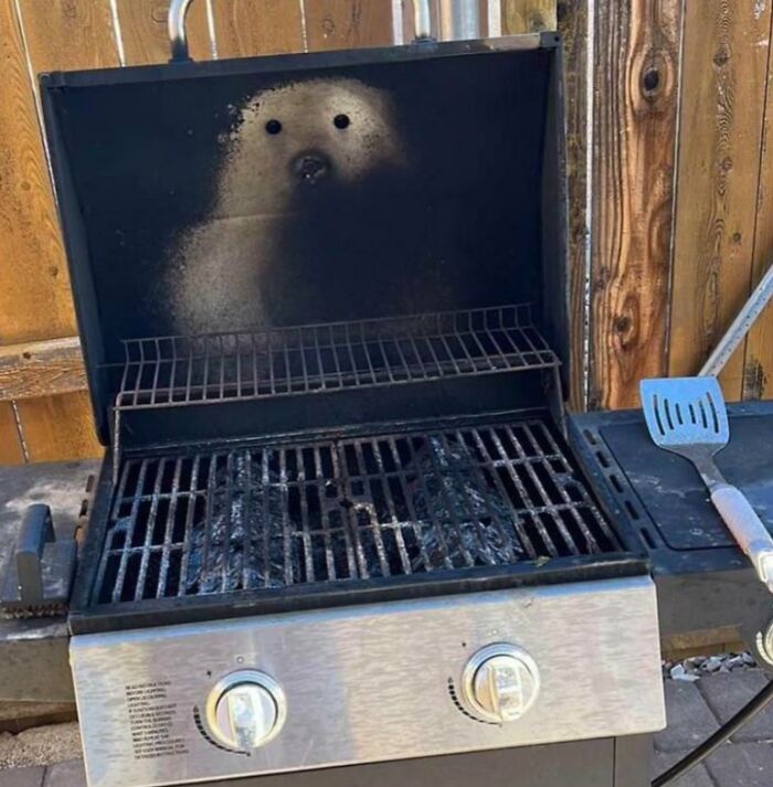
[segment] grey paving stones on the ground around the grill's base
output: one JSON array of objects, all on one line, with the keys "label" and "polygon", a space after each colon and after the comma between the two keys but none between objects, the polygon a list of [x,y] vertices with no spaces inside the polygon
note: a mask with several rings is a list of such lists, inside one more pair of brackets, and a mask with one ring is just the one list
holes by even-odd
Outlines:
[{"label": "grey paving stones on the ground around the grill's base", "polygon": [[[666,681],[668,728],[655,736],[653,775],[659,774],[710,735],[765,683],[759,670],[714,674],[696,683]],[[67,725],[61,725],[65,727]],[[7,743],[27,746],[25,762],[35,762],[34,731]],[[64,733],[64,731],[62,731]],[[20,738],[27,736],[24,741]],[[72,727],[63,735],[72,752]],[[77,740],[74,740],[77,743]],[[0,740],[0,755],[3,741]],[[38,756],[45,756],[42,753]],[[24,762],[24,761],[17,761]],[[39,761],[44,762],[44,761]],[[50,761],[49,761],[50,762]],[[83,763],[68,759],[54,765],[0,770],[0,787],[85,787]],[[688,774],[679,787],[771,787],[773,785],[773,704],[753,723]]]}]

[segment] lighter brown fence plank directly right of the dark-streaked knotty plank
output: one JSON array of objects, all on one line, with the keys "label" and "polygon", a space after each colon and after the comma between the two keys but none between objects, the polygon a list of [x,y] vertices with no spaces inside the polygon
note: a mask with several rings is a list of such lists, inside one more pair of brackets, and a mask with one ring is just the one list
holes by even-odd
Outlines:
[{"label": "lighter brown fence plank directly right of the dark-streaked knotty plank", "polygon": [[[770,3],[687,3],[669,371],[695,374],[749,296]],[[720,382],[741,396],[743,351]]]}]

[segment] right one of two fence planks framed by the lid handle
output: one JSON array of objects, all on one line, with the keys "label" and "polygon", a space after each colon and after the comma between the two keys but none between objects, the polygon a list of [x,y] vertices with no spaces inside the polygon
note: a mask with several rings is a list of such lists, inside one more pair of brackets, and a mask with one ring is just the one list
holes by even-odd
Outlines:
[{"label": "right one of two fence planks framed by the lid handle", "polygon": [[391,0],[306,0],[309,51],[392,43]]}]

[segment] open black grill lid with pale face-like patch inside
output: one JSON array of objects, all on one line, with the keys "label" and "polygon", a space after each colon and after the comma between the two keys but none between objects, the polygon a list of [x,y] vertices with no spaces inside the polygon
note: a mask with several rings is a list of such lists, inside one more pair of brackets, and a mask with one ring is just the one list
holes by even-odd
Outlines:
[{"label": "open black grill lid with pale face-like patch inside", "polygon": [[148,337],[174,381],[191,334],[531,304],[565,369],[560,71],[551,33],[44,75],[102,439]]}]

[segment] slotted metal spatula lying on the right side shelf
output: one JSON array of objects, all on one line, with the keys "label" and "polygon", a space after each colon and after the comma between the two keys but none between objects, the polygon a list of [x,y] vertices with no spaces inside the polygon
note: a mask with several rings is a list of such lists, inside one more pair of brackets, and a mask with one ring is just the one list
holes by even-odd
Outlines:
[{"label": "slotted metal spatula lying on the right side shelf", "polygon": [[711,502],[773,593],[773,538],[744,494],[728,483],[713,457],[728,445],[730,428],[716,377],[643,380],[639,386],[649,435],[659,448],[689,459]]}]

